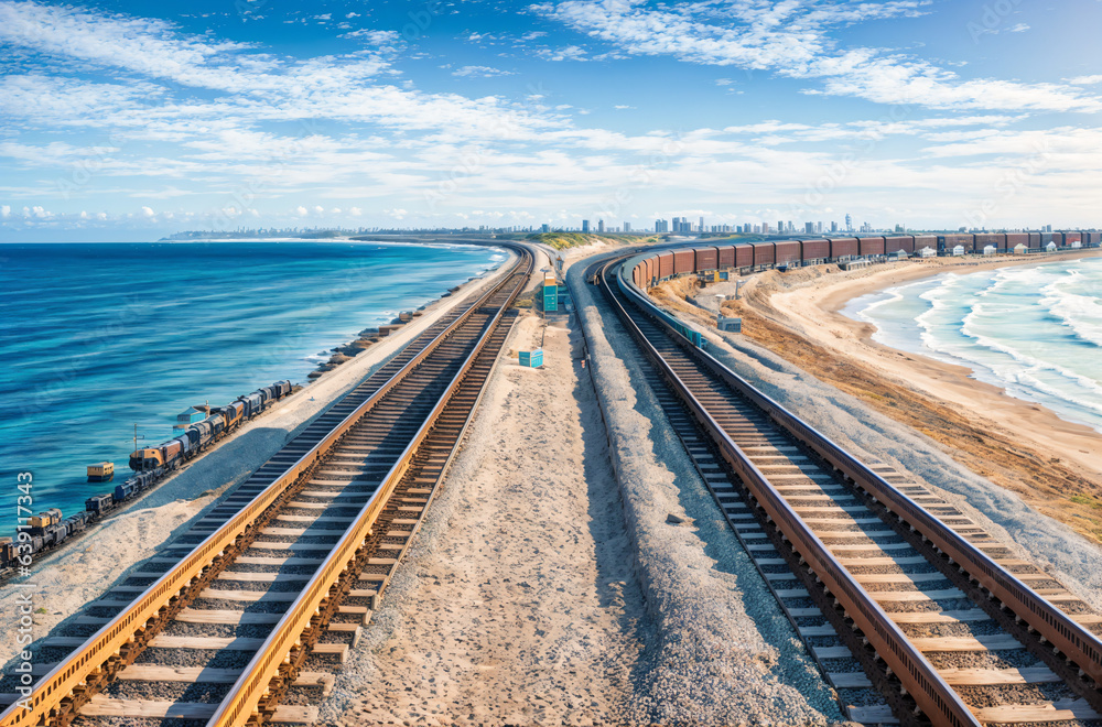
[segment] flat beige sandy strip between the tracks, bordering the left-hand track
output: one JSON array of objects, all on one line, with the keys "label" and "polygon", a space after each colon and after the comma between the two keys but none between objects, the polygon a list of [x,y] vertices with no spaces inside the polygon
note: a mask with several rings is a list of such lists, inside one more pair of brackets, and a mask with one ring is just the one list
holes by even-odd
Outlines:
[{"label": "flat beige sandy strip between the tracks, bordering the left-hand track", "polygon": [[[630,721],[648,631],[631,544],[579,336],[540,327],[514,329],[325,721]],[[543,369],[521,368],[541,338]]]}]

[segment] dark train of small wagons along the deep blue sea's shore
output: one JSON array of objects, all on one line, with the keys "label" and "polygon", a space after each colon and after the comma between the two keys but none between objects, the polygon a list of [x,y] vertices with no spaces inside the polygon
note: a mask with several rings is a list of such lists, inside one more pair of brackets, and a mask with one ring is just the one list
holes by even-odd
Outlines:
[{"label": "dark train of small wagons along the deep blue sea's shore", "polygon": [[186,427],[180,436],[155,447],[133,452],[130,455],[133,476],[117,485],[114,492],[88,498],[83,512],[62,519],[62,511],[51,508],[28,518],[26,524],[19,527],[14,539],[0,538],[0,578],[11,576],[21,565],[30,565],[35,553],[61,545],[126,500],[148,490],[182,463],[290,393],[290,381],[277,381],[270,387],[238,397],[225,406],[212,409],[206,419]]}]

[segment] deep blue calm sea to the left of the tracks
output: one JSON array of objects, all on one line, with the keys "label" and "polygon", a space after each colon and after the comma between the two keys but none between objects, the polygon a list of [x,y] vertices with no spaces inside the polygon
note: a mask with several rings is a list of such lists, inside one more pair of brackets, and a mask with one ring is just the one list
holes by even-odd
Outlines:
[{"label": "deep blue calm sea to the left of the tracks", "polygon": [[[328,349],[485,272],[474,246],[348,241],[0,245],[0,534],[17,473],[69,514],[129,475],[134,425],[172,436],[192,404],[294,383]],[[115,482],[85,467],[115,463]]]}]

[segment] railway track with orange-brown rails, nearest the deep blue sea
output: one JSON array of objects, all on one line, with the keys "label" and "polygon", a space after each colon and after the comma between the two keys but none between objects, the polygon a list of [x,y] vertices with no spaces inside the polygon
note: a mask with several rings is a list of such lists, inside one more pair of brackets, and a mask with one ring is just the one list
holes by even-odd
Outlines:
[{"label": "railway track with orange-brown rails, nearest the deep blue sea", "polygon": [[[519,259],[39,647],[0,725],[309,724],[466,430],[533,269]],[[82,632],[83,630],[83,632]]]}]

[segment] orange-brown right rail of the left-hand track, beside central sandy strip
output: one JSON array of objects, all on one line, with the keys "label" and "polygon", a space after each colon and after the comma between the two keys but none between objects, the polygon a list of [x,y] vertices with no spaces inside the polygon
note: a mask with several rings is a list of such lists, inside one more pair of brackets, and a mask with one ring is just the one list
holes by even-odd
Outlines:
[{"label": "orange-brown right rail of the left-hand track, beside central sandy strip", "polygon": [[[352,565],[352,562],[356,558],[357,551],[367,544],[367,538],[370,534],[371,527],[375,524],[379,511],[387,504],[390,493],[406,474],[421,443],[432,427],[435,426],[440,412],[443,411],[449,399],[451,399],[460,382],[469,371],[478,354],[493,335],[501,316],[523,287],[525,282],[534,268],[534,257],[528,256],[528,259],[527,274],[523,274],[523,279],[517,284],[500,307],[498,307],[494,317],[486,324],[474,349],[452,378],[452,381],[447,384],[444,393],[441,394],[436,405],[418,428],[417,434],[409,445],[407,445],[401,457],[390,468],[382,484],[375,490],[367,503],[364,504],[359,514],[356,516],[356,520],[348,527],[337,544],[334,545],[333,550],[317,567],[317,571],[314,572],[313,577],[288,608],[287,614],[276,625],[276,628],[272,629],[272,632],[264,640],[260,650],[245,668],[245,672],[218,705],[218,709],[214,716],[207,721],[207,727],[240,727],[253,719],[257,714],[256,707],[268,690],[269,682],[279,673],[280,665],[288,659],[291,649],[296,645],[302,633],[311,628],[311,620],[321,611],[323,601],[331,597],[329,589]],[[519,273],[510,275],[509,280],[512,280],[517,274]]]}]

